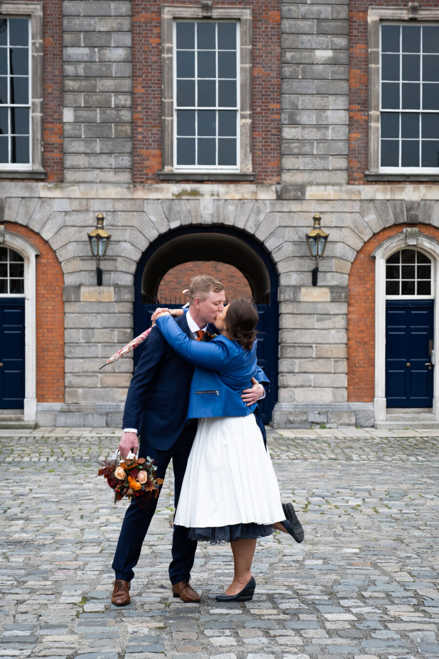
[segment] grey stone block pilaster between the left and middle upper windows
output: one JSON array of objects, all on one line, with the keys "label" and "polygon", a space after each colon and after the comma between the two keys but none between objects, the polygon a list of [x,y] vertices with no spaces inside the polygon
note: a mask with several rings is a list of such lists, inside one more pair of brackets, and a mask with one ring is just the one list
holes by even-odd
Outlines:
[{"label": "grey stone block pilaster between the left and middle upper windows", "polygon": [[132,180],[130,0],[63,2],[65,181]]}]

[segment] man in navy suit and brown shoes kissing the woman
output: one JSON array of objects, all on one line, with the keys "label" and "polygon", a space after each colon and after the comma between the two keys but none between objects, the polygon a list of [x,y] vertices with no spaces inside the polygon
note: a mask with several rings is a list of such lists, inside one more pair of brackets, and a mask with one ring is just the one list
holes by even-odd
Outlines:
[{"label": "man in navy suit and brown shoes kissing the woman", "polygon": [[[207,275],[193,277],[188,313],[176,318],[176,323],[190,339],[208,340],[209,335],[215,333],[213,323],[224,308],[224,300],[224,286],[219,281]],[[122,422],[124,434],[119,442],[122,458],[130,451],[139,451],[140,457],[153,458],[158,478],[165,478],[172,459],[175,507],[197,430],[196,420],[186,421],[193,374],[194,366],[174,353],[161,332],[153,329],[145,341],[128,389]],[[251,405],[263,395],[263,387],[254,380],[252,389],[245,389],[242,398]],[[133,568],[140,558],[156,506],[157,499],[153,499],[145,511],[132,501],[126,510],[112,566],[115,583],[111,602],[116,606],[130,603]],[[169,578],[174,597],[184,602],[199,602],[199,594],[189,583],[196,548],[197,543],[188,540],[187,530],[174,526]]]}]

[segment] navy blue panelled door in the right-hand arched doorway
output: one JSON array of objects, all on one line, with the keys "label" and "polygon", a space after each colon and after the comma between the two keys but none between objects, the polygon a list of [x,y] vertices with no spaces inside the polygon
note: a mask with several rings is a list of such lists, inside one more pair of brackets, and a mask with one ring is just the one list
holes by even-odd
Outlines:
[{"label": "navy blue panelled door in the right-hand arched doorway", "polygon": [[432,300],[386,302],[387,407],[432,407],[433,313]]}]

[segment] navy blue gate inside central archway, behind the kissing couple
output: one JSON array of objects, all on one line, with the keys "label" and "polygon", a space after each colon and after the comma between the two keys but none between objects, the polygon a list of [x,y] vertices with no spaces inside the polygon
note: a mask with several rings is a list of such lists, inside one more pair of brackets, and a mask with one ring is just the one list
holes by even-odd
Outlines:
[{"label": "navy blue gate inside central archway, behind the kissing couple", "polygon": [[[167,307],[170,309],[181,308],[180,304],[167,304]],[[142,329],[138,326],[136,334],[151,326],[151,315],[157,309],[157,304],[142,304]],[[270,353],[271,344],[268,340],[268,335],[270,331],[270,305],[269,304],[257,304],[257,312],[259,314],[259,323],[257,324],[257,363],[262,368],[262,370],[267,375],[267,378],[271,382],[276,382],[277,380],[277,355],[274,355],[274,358]],[[274,345],[277,348],[277,341],[274,341]],[[138,361],[142,355],[142,344],[134,350],[134,366],[137,366]],[[265,387],[265,399],[260,401],[259,407],[261,408],[261,415],[264,423],[269,423],[271,419],[271,411],[274,407],[275,400],[272,400],[272,391],[271,386]]]}]

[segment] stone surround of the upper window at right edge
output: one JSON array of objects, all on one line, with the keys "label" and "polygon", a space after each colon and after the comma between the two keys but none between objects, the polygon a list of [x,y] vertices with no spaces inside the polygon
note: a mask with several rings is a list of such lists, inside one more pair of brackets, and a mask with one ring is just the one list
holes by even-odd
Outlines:
[{"label": "stone surround of the upper window at right edge", "polygon": [[407,24],[408,21],[416,24],[438,23],[439,7],[418,9],[417,5],[411,4],[408,8],[369,7],[368,10],[369,166],[365,172],[368,181],[439,180],[439,167],[380,167],[381,23]]}]

